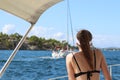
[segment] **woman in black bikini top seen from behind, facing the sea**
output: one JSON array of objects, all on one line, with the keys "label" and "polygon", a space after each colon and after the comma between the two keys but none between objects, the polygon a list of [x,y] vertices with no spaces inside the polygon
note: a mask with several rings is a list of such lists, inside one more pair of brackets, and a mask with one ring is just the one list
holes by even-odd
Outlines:
[{"label": "woman in black bikini top seen from behind, facing the sea", "polygon": [[92,34],[88,30],[81,30],[77,33],[77,39],[79,52],[66,57],[69,80],[100,80],[100,70],[105,80],[111,80],[102,52],[91,46]]}]

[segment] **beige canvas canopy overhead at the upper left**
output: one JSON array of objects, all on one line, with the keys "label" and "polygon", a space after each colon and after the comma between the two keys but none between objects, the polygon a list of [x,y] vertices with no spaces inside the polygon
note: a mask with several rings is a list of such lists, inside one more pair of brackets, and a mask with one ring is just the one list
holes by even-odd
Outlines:
[{"label": "beige canvas canopy overhead at the upper left", "polygon": [[34,24],[40,15],[61,0],[0,0],[0,9]]}]

